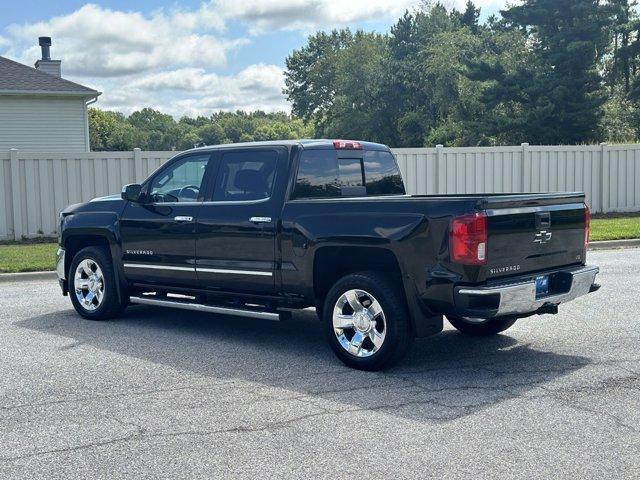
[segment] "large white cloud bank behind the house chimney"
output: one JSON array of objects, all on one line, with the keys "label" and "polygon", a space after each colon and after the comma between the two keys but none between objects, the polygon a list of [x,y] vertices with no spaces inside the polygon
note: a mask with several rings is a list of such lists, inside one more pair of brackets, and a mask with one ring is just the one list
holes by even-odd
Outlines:
[{"label": "large white cloud bank behind the house chimney", "polygon": [[11,53],[21,60],[38,58],[35,39],[46,32],[53,37],[55,54],[64,59],[66,73],[109,77],[175,65],[224,65],[227,51],[246,40],[212,34],[223,29],[224,20],[207,3],[197,10],[157,10],[151,15],[87,4],[68,15],[7,30]]}]

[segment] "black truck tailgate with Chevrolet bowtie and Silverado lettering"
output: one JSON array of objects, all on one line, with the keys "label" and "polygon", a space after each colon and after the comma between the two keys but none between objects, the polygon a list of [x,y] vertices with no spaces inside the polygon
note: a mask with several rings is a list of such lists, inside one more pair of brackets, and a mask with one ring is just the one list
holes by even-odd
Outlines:
[{"label": "black truck tailgate with Chevrolet bowtie and Silverado lettering", "polygon": [[585,261],[584,194],[486,197],[487,278]]}]

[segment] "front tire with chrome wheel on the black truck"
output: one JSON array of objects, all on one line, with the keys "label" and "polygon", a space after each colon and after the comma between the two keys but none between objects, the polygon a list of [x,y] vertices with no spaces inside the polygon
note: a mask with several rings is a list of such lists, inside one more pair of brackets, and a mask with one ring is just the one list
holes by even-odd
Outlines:
[{"label": "front tire with chrome wheel on the black truck", "polygon": [[73,257],[68,277],[71,303],[82,317],[108,320],[126,308],[127,303],[118,297],[113,262],[107,248],[80,250]]}]

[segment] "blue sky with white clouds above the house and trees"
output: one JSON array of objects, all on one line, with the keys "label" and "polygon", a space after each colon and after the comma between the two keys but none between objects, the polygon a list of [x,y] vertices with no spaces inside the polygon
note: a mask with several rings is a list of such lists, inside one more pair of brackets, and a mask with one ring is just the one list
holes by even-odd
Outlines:
[{"label": "blue sky with white clouds above the house and trees", "polygon": [[[420,0],[0,0],[0,55],[32,66],[52,37],[62,76],[102,93],[96,106],[176,118],[289,110],[287,55],[317,30],[387,32]],[[445,0],[462,8],[466,0]],[[506,0],[476,0],[482,17]]]}]

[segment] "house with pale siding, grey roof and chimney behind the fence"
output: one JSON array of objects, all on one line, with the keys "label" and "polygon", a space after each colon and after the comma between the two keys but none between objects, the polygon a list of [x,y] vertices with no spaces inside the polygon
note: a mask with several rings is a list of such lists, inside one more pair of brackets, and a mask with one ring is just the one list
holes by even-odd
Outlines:
[{"label": "house with pale siding, grey roof and chimney behind the fence", "polygon": [[63,79],[51,38],[39,43],[35,68],[0,56],[0,150],[88,152],[87,105],[100,92]]}]

